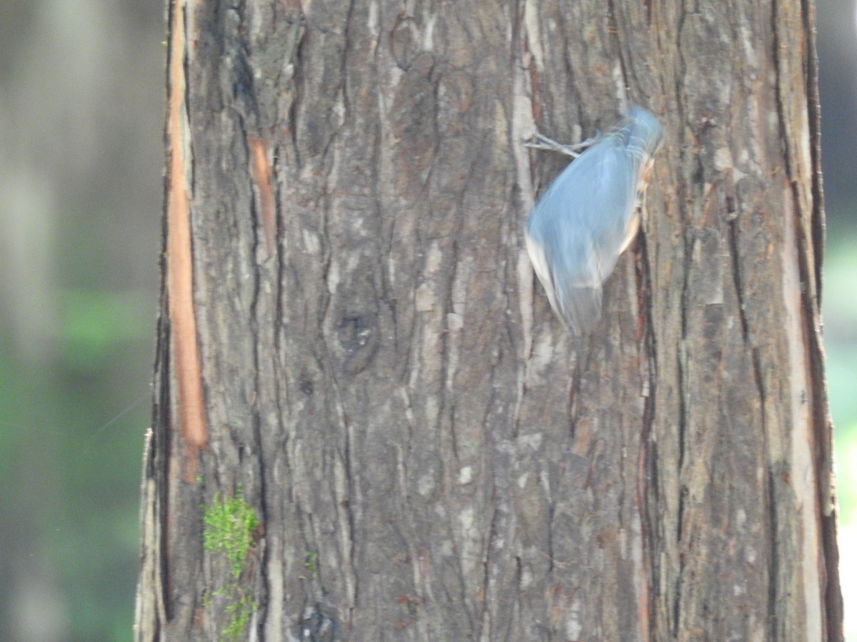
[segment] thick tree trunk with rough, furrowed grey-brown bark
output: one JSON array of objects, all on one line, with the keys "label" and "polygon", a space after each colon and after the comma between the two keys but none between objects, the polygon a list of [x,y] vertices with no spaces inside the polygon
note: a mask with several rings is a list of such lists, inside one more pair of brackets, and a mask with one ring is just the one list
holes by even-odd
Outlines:
[{"label": "thick tree trunk with rough, furrowed grey-brown bark", "polygon": [[[171,0],[138,639],[842,637],[812,6],[700,5]],[[668,142],[578,364],[520,141],[626,100]]]}]

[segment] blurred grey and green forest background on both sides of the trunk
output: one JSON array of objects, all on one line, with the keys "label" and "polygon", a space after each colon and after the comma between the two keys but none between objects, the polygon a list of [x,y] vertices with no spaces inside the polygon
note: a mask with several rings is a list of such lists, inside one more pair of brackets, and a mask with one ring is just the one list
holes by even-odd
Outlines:
[{"label": "blurred grey and green forest background on both sides of the trunk", "polygon": [[[857,607],[857,29],[818,3],[843,590]],[[157,309],[164,8],[0,3],[0,640],[128,640]],[[847,624],[857,639],[857,620]]]}]

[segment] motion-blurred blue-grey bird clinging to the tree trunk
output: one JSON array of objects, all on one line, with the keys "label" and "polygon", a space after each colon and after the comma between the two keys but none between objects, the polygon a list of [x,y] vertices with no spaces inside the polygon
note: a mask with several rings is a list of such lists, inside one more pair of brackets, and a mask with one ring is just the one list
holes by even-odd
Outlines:
[{"label": "motion-blurred blue-grey bird clinging to the tree trunk", "polygon": [[541,134],[536,138],[527,145],[576,157],[530,212],[526,245],[551,307],[579,346],[601,316],[602,283],[637,234],[663,129],[655,116],[632,106],[591,144],[561,146]]}]

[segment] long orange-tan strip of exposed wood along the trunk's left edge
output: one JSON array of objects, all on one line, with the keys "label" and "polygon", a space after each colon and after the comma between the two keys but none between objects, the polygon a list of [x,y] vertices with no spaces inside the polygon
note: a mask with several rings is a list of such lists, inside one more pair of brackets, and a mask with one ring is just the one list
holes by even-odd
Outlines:
[{"label": "long orange-tan strip of exposed wood along the trunk's left edge", "polygon": [[170,43],[170,98],[167,133],[166,270],[170,298],[172,351],[177,381],[177,406],[187,457],[185,479],[192,482],[198,469],[198,453],[208,441],[205,401],[202,394],[200,348],[194,310],[194,263],[190,238],[190,202],[186,166],[189,164],[183,58],[184,12],[179,4],[172,12]]}]

